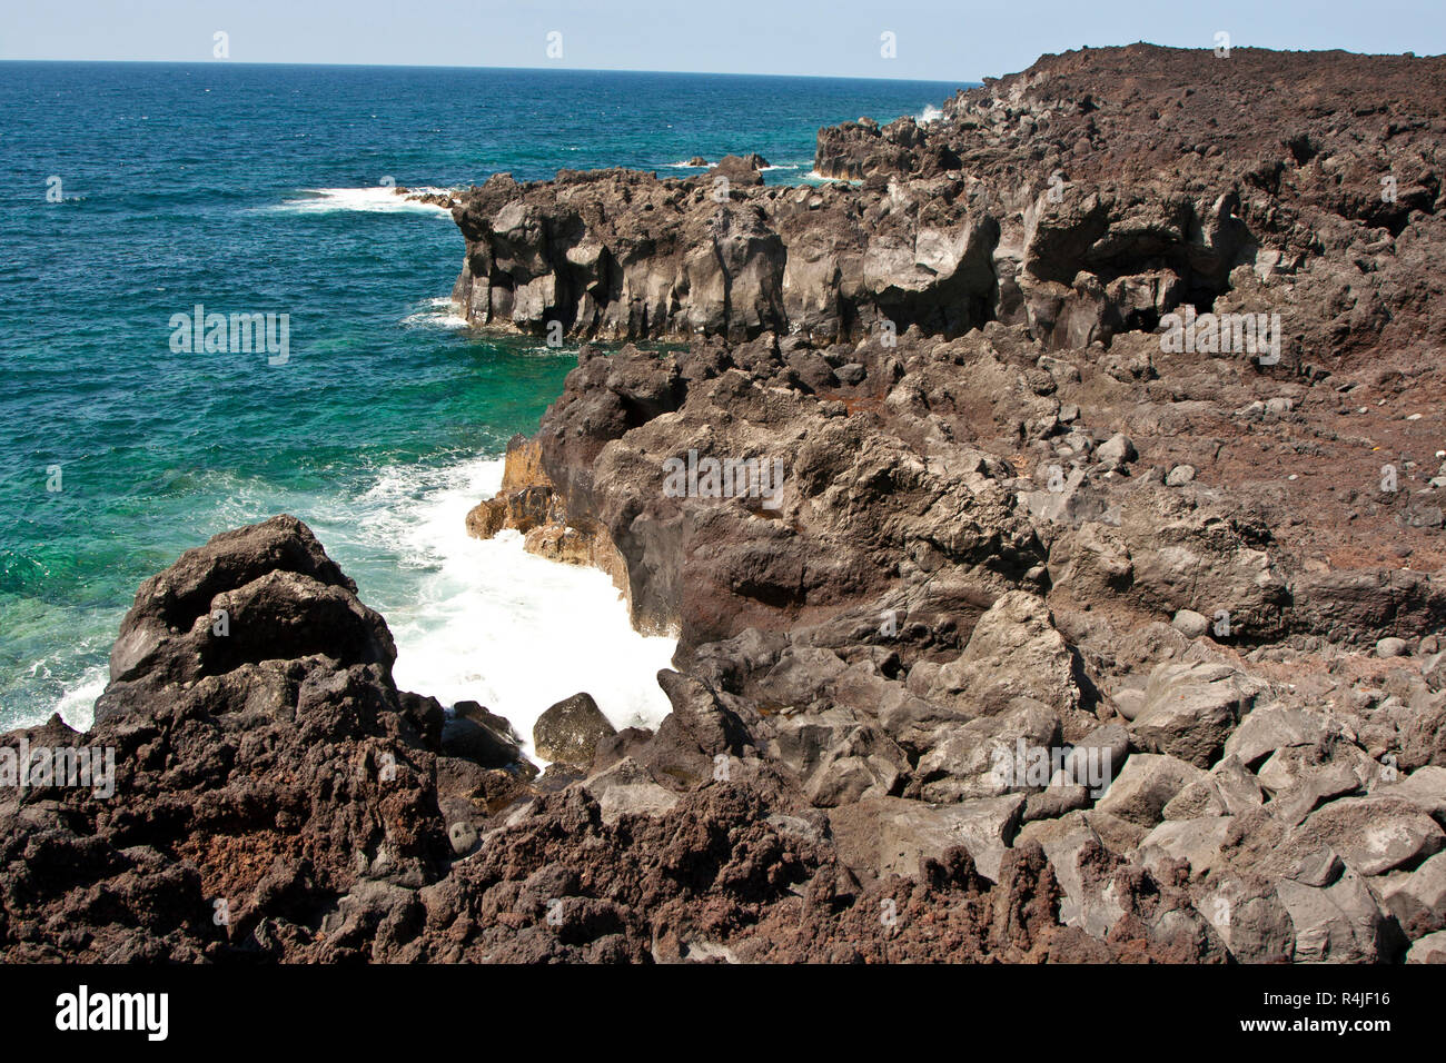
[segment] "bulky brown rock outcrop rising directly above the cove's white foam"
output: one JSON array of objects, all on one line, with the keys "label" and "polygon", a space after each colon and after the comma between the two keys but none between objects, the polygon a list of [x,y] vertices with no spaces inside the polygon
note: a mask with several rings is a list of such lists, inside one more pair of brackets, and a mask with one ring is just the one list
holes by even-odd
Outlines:
[{"label": "bulky brown rock outcrop rising directly above the cove's white foam", "polygon": [[[869,360],[886,354],[870,351]],[[544,418],[542,464],[570,522],[607,531],[639,626],[681,629],[693,646],[749,626],[810,623],[872,600],[901,576],[923,583],[946,563],[970,573],[980,594],[1002,593],[1044,560],[998,483],[1001,466],[991,471],[976,453],[944,445],[924,460],[876,419],[839,417],[787,386],[791,367],[772,337],[723,357],[750,370],[710,363],[719,375],[687,382],[675,412],[623,432],[620,421],[594,415],[612,385],[593,380],[659,360],[633,349],[610,359],[584,350]],[[687,377],[698,369],[674,364],[664,357],[656,372]],[[690,454],[762,463],[774,493],[674,496],[667,463]]]}]

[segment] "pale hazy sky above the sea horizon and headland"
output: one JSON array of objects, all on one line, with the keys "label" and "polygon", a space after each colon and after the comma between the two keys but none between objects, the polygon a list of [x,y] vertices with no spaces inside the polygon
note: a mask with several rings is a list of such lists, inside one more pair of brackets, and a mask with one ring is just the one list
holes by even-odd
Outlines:
[{"label": "pale hazy sky above the sea horizon and headland", "polygon": [[[1443,0],[0,0],[0,59],[351,62],[967,80],[1080,45],[1446,52]],[[547,54],[561,33],[561,58]],[[881,35],[897,58],[881,55]]]}]

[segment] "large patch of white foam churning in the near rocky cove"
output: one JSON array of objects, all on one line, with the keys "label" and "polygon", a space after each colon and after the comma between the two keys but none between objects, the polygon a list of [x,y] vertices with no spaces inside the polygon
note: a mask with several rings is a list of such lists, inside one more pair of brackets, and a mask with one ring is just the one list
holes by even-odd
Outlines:
[{"label": "large patch of white foam churning in the near rocky cove", "polygon": [[416,469],[388,469],[362,499],[354,534],[367,552],[422,570],[406,600],[383,609],[398,687],[445,706],[480,701],[512,722],[528,754],[538,716],[584,690],[613,726],[656,727],[671,712],[656,674],[671,667],[675,639],[633,631],[596,568],[528,554],[518,532],[467,535],[467,512],[496,495],[502,470],[500,458],[477,458],[418,484]]}]

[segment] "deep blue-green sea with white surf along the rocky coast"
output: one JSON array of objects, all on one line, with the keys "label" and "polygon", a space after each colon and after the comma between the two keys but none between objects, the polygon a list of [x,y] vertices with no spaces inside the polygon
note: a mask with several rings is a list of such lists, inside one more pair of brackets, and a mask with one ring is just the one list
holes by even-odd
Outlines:
[{"label": "deep blue-green sea with white surf along the rocky coast", "polygon": [[[576,350],[461,328],[461,236],[386,182],[726,152],[798,182],[818,126],[966,84],[0,62],[0,729],[88,726],[137,584],[278,512],[388,618],[402,686],[526,729],[584,688],[655,720],[672,644],[606,577],[463,531]],[[172,350],[197,304],[288,314],[289,359]]]}]

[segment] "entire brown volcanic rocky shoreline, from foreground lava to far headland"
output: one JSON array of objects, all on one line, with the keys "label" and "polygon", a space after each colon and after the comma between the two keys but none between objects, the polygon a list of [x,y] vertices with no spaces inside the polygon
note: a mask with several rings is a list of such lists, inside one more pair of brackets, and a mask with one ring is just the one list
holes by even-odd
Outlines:
[{"label": "entire brown volcanic rocky shoreline, from foreground lava to far headland", "polygon": [[0,956],[1446,960],[1443,100],[1086,49],[820,130],[856,184],[451,194],[463,315],[583,343],[469,531],[609,573],[672,713],[539,774],[227,532],[23,735],[114,795],[0,791]]}]

